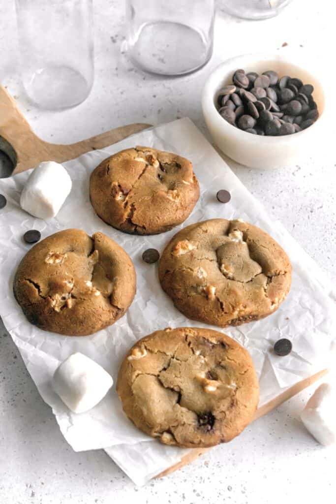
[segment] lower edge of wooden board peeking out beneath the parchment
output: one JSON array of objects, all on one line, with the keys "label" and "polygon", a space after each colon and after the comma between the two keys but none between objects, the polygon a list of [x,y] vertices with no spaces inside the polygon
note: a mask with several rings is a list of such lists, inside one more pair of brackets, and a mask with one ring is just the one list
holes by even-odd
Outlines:
[{"label": "lower edge of wooden board peeking out beneath the parchment", "polygon": [[[282,394],[279,396],[275,397],[268,403],[264,404],[260,408],[258,408],[254,414],[254,417],[252,419],[252,422],[254,420],[257,420],[263,415],[266,415],[270,411],[274,410],[281,404],[283,404],[285,401],[288,401],[288,399],[291,399],[291,397],[296,396],[296,394],[299,394],[299,392],[302,392],[304,389],[307,387],[310,387],[313,383],[317,382],[317,380],[320,380],[322,376],[327,374],[328,369],[323,369],[322,371],[318,371],[317,373],[313,374],[312,376],[309,376],[308,378],[305,378],[304,380],[301,380],[301,382],[296,383],[289,389],[285,390]],[[176,464],[172,465],[171,467],[168,467],[168,469],[165,469],[162,471],[160,474],[155,476],[156,478],[162,478],[163,476],[168,476],[169,474],[172,474],[173,472],[177,471],[178,469],[181,469],[187,464],[190,464],[190,462],[193,462],[195,459],[197,459],[200,455],[203,455],[204,453],[208,452],[211,450],[211,448],[195,448],[191,452],[187,453],[184,455],[179,462]]]}]

